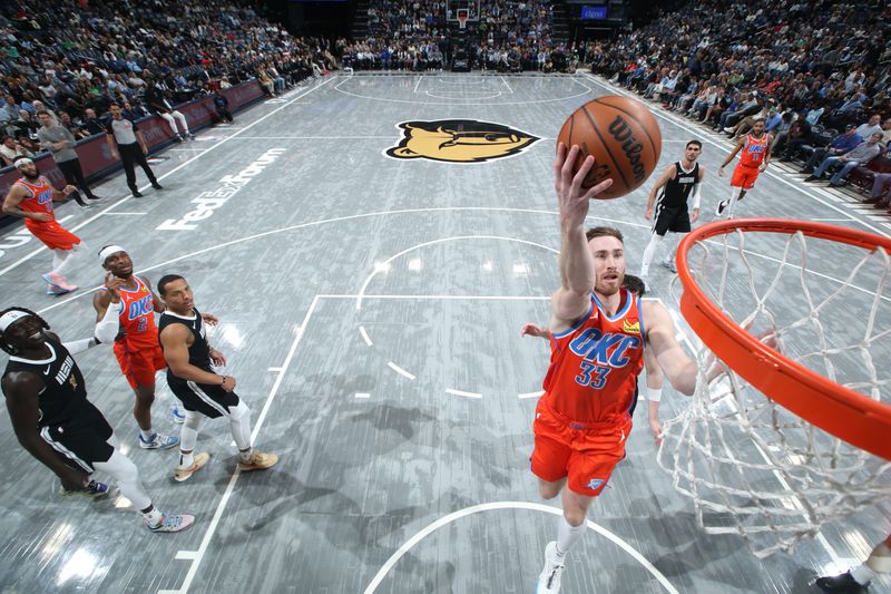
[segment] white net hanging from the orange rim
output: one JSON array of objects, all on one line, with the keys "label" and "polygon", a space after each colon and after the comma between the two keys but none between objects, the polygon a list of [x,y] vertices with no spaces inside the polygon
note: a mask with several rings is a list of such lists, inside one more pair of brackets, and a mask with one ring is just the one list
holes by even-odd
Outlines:
[{"label": "white net hanging from the orange rim", "polygon": [[[891,259],[883,250],[737,230],[696,243],[687,262],[699,288],[741,328],[824,378],[891,405]],[[707,533],[738,534],[764,557],[891,497],[888,460],[802,420],[716,362],[704,344],[694,348],[696,393],[664,426],[658,460],[693,499]]]}]

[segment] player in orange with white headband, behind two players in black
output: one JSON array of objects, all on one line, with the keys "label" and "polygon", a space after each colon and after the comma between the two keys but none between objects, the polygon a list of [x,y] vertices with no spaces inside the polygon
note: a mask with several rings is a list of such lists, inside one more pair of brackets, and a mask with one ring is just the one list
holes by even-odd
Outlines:
[{"label": "player in orange with white headband, behind two players in black", "polygon": [[[133,273],[133,260],[124,247],[106,245],[99,251],[99,262],[107,273],[119,281],[120,293],[119,331],[106,333],[101,328],[106,311],[111,304],[108,291],[97,291],[92,298],[96,309],[96,337],[106,343],[114,342],[115,356],[118,359],[124,377],[136,393],[133,416],[139,426],[139,447],[144,449],[167,449],[179,444],[179,438],[160,435],[151,428],[151,405],[155,401],[155,373],[167,368],[164,353],[158,342],[158,329],[155,325],[155,312],[163,312],[164,302],[155,294],[148,279]],[[215,324],[217,319],[203,314],[205,322]],[[185,413],[173,410],[174,421],[185,421]]]}]

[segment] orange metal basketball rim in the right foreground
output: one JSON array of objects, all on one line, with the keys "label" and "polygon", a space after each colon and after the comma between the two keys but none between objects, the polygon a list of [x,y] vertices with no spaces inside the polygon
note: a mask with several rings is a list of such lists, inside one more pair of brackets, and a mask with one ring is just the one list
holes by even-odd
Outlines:
[{"label": "orange metal basketball rim in the right foreground", "polygon": [[824,431],[891,460],[891,406],[844,388],[771,349],[743,330],[696,284],[687,254],[694,244],[735,231],[786,233],[829,240],[891,254],[891,240],[824,223],[783,218],[716,221],[681,242],[677,274],[684,285],[681,313],[694,332],[735,373],[771,400]]}]

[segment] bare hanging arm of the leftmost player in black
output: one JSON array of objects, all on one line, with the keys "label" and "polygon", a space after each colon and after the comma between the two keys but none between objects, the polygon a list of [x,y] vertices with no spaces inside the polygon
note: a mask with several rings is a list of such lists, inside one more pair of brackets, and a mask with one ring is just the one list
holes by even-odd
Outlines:
[{"label": "bare hanging arm of the leftmost player in black", "polygon": [[12,421],[12,429],[19,444],[52,470],[61,480],[62,487],[67,490],[81,490],[87,486],[89,476],[62,462],[61,457],[37,430],[40,420],[38,395],[43,388],[43,380],[30,371],[14,371],[3,378],[3,393],[7,397],[7,410]]}]

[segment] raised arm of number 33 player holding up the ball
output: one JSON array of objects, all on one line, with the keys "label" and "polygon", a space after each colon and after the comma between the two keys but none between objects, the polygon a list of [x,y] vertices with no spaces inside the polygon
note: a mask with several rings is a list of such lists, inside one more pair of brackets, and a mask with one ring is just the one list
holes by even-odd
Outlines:
[{"label": "raised arm of number 33 player holding up the ball", "polygon": [[605,179],[588,191],[581,187],[594,167],[594,157],[588,156],[572,175],[578,155],[578,146],[567,150],[560,143],[554,160],[554,187],[560,211],[560,288],[551,296],[554,320],[550,324],[556,332],[570,328],[590,308],[595,273],[594,257],[585,237],[585,217],[590,199],[613,185],[613,179]]}]

